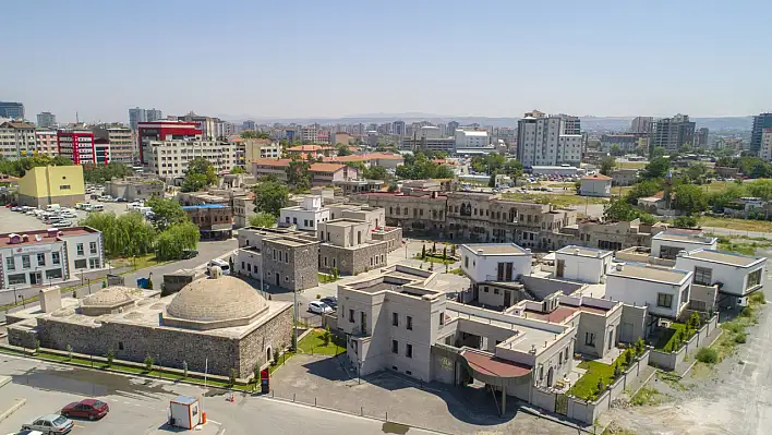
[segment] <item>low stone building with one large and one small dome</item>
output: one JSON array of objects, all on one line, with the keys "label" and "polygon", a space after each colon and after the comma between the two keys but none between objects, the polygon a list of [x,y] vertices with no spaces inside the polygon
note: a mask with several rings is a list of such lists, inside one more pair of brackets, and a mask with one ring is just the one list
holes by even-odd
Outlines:
[{"label": "low stone building with one large and one small dome", "polygon": [[[217,274],[215,274],[217,275]],[[58,291],[57,294],[60,294]],[[292,304],[266,301],[244,281],[220,276],[200,279],[179,293],[111,287],[79,301],[62,300],[16,312],[9,318],[9,342],[39,340],[49,349],[105,355],[228,376],[249,377],[265,366],[274,349],[290,342]]]}]

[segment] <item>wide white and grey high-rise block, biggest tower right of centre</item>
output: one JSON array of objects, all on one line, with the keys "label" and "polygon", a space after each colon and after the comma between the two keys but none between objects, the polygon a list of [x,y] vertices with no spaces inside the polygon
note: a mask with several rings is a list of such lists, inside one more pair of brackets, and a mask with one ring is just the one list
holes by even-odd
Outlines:
[{"label": "wide white and grey high-rise block, biggest tower right of centre", "polygon": [[[569,132],[569,133],[567,133]],[[583,137],[579,118],[534,110],[518,121],[517,158],[523,166],[578,166]]]}]

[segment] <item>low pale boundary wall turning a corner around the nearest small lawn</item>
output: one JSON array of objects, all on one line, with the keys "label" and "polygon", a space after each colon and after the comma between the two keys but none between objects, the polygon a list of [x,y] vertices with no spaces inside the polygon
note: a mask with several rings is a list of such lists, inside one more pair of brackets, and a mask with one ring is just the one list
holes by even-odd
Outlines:
[{"label": "low pale boundary wall turning a corner around the nearest small lawn", "polygon": [[643,352],[641,358],[632,362],[595,401],[582,400],[578,397],[533,387],[531,390],[531,404],[582,423],[592,424],[603,411],[611,408],[612,402],[625,391],[628,385],[639,380],[642,375],[650,373],[647,366],[650,362],[651,352],[651,350]]}]

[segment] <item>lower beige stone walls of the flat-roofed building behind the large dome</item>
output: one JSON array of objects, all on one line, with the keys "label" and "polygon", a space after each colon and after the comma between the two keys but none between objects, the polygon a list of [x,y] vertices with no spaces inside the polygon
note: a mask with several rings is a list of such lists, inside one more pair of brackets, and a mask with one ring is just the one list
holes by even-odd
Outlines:
[{"label": "lower beige stone walls of the flat-roofed building behind the large dome", "polygon": [[386,266],[387,242],[370,242],[354,247],[328,243],[319,245],[319,269],[330,273],[335,267],[340,275],[357,275]]}]

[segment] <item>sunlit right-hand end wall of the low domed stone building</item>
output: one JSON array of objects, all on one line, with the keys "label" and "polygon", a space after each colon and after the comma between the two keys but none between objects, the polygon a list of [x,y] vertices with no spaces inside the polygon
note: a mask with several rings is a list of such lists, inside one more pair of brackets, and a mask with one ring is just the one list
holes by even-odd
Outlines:
[{"label": "sunlit right-hand end wall of the low domed stone building", "polygon": [[250,333],[239,342],[239,377],[248,377],[255,365],[264,366],[274,350],[284,350],[291,343],[292,306],[288,305],[265,325]]}]

